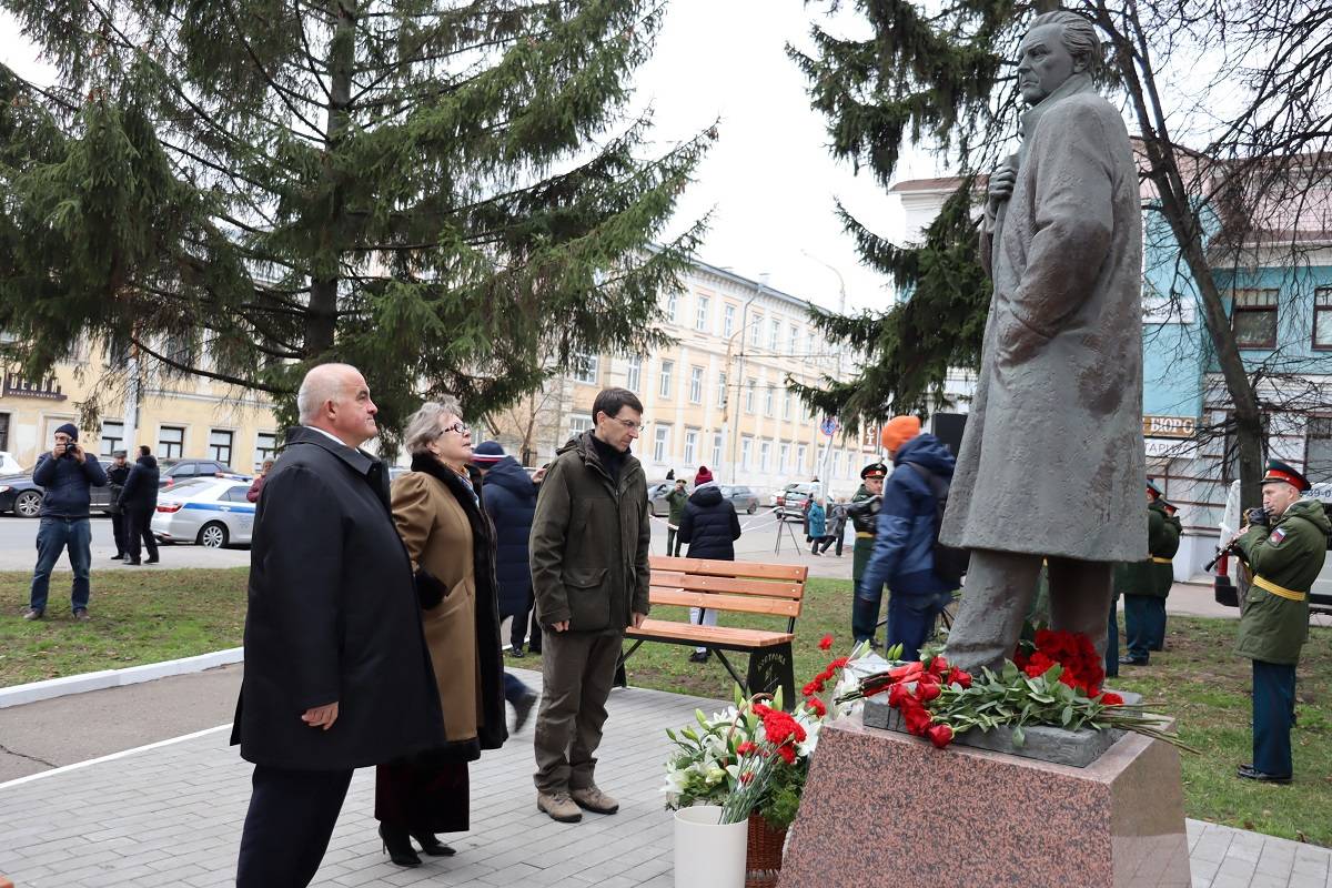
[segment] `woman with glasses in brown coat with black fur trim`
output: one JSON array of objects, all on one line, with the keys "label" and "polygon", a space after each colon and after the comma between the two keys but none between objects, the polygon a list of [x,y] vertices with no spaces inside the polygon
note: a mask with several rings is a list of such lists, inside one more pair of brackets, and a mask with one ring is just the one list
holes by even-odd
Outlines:
[{"label": "woman with glasses in brown coat with black fur trim", "polygon": [[[376,774],[374,816],[393,863],[417,867],[410,837],[452,855],[434,833],[468,829],[468,762],[507,738],[494,529],[469,474],[472,434],[452,399],[408,422],[412,471],[393,482],[393,521],[416,571],[446,744]],[[410,837],[409,837],[410,836]]]}]

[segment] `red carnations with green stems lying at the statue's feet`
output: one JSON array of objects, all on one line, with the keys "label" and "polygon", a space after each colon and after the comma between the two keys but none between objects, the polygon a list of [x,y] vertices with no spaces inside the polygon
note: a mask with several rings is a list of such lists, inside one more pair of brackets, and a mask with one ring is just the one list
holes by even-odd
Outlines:
[{"label": "red carnations with green stems lying at the statue's feet", "polygon": [[1136,731],[1195,751],[1179,735],[1163,730],[1162,719],[1143,704],[1126,706],[1118,694],[1103,691],[1104,678],[1091,639],[1040,630],[1032,640],[1019,644],[998,675],[983,670],[974,678],[943,656],[927,656],[862,679],[836,703],[886,692],[907,731],[939,748],[958,734],[998,727],[1012,728],[1014,743],[1020,746],[1023,728],[1039,724],[1070,731]]}]

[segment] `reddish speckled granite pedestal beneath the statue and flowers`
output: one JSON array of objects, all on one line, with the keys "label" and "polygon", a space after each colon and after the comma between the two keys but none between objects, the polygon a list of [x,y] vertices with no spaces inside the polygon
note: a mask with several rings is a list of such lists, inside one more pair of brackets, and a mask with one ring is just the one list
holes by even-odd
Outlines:
[{"label": "reddish speckled granite pedestal beneath the statue and flowers", "polygon": [[1188,888],[1179,752],[1126,734],[1086,767],[823,728],[779,888]]}]

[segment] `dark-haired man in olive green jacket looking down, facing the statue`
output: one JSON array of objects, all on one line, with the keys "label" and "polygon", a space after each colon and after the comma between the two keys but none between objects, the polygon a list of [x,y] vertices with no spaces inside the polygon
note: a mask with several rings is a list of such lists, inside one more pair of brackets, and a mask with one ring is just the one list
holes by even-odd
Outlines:
[{"label": "dark-haired man in olive green jacket looking down, facing the statue", "polygon": [[531,587],[546,630],[537,808],[562,823],[581,820],[579,808],[619,809],[594,770],[625,630],[647,615],[647,481],[629,453],[642,413],[627,389],[601,391],[594,429],[561,447],[531,522]]}]

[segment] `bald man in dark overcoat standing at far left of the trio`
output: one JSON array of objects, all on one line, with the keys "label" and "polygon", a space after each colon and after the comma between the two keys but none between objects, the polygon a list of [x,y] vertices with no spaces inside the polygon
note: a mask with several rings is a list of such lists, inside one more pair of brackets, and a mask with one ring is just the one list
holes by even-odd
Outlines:
[{"label": "bald man in dark overcoat standing at far left of the trio", "polygon": [[264,483],[232,743],[254,763],[240,888],[308,885],[353,768],[444,746],[412,563],[361,374],[322,365]]}]

